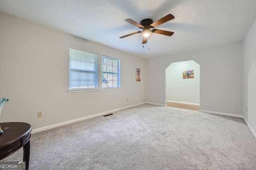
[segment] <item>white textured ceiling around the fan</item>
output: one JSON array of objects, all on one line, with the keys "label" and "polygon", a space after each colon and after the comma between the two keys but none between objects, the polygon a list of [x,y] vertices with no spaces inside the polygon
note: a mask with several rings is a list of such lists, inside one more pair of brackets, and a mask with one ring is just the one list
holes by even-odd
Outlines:
[{"label": "white textured ceiling around the fan", "polygon": [[[0,0],[0,11],[142,58],[243,40],[256,18],[256,0]],[[124,21],[175,18],[142,47],[142,31]],[[150,50],[149,50],[150,48]]]}]

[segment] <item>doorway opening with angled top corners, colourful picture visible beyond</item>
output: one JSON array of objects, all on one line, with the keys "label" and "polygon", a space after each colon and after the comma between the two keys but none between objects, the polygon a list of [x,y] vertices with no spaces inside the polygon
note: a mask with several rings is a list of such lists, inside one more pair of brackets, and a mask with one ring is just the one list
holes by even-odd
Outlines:
[{"label": "doorway opening with angled top corners, colourful picture visible beyond", "polygon": [[193,60],[182,61],[171,63],[166,68],[166,105],[199,110],[200,65],[198,63]]}]

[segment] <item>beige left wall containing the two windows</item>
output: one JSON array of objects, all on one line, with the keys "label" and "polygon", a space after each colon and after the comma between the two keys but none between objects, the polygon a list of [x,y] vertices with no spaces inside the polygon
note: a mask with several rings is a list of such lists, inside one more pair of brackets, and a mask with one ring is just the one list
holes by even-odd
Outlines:
[{"label": "beige left wall containing the two windows", "polygon": [[[146,102],[145,59],[0,13],[0,122],[33,129]],[[121,60],[121,89],[68,93],[68,48]],[[141,82],[135,69],[141,69]],[[128,98],[128,101],[126,101]],[[43,117],[38,118],[37,112]]]}]

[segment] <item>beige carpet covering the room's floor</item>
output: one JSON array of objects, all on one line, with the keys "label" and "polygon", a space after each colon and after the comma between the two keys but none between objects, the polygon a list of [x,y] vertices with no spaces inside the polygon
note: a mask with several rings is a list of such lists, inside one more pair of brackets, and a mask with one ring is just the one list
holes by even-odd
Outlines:
[{"label": "beige carpet covering the room's floor", "polygon": [[242,118],[144,104],[32,134],[30,170],[256,170],[256,139]]}]

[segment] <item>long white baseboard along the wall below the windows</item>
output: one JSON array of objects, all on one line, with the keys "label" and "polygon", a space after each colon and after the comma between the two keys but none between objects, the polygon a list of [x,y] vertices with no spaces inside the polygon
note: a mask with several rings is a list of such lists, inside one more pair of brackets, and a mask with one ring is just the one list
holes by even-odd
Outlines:
[{"label": "long white baseboard along the wall below the windows", "polygon": [[54,125],[49,125],[49,126],[40,127],[40,128],[37,128],[37,129],[32,129],[31,133],[36,133],[36,132],[40,132],[40,131],[45,131],[45,130],[48,130],[48,129],[52,129],[52,128],[54,128],[54,127],[59,127],[59,126],[67,125],[67,124],[74,123],[74,122],[77,122],[77,121],[82,121],[82,120],[85,120],[85,119],[90,119],[90,118],[92,118],[92,117],[97,117],[97,116],[101,116],[101,115],[106,115],[106,114],[112,113],[112,112],[114,112],[114,111],[118,111],[118,110],[122,110],[122,109],[127,109],[127,108],[129,108],[129,107],[139,106],[139,105],[142,105],[142,104],[146,104],[146,102],[143,102],[143,103],[140,103],[140,104],[135,104],[135,105],[132,105],[132,106],[126,106],[126,107],[122,107],[122,108],[114,109],[114,110],[110,110],[110,111],[105,111],[105,112],[103,112],[103,113],[98,113],[98,114],[95,114],[95,115],[90,115],[90,116],[86,116],[86,117],[81,117],[81,118],[78,118],[78,119],[73,119],[73,120],[70,120],[70,121],[62,122],[62,123],[56,123],[56,124],[54,124]]}]

